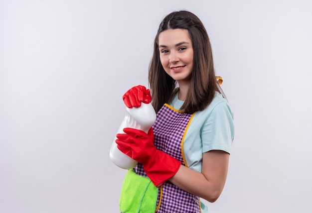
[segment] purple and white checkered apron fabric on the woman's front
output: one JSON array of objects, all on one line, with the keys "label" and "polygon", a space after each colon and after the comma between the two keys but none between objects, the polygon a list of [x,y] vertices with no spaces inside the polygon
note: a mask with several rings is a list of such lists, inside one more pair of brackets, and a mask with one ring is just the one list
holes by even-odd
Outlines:
[{"label": "purple and white checkered apron fabric on the woman's front", "polygon": [[[176,158],[182,165],[181,141],[191,116],[192,114],[175,111],[164,105],[157,112],[153,125],[156,148]],[[142,164],[139,163],[135,169],[137,174],[147,177]],[[158,190],[157,206],[160,196],[161,203],[157,213],[200,213],[199,198],[169,181],[162,185],[162,195]]]}]

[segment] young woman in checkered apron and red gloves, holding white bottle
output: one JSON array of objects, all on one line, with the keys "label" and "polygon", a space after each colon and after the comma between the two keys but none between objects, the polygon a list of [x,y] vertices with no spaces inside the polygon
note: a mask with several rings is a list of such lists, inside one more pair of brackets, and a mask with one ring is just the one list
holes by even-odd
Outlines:
[{"label": "young woman in checkered apron and red gloves, holding white bottle", "polygon": [[[199,198],[215,202],[223,190],[234,123],[207,32],[193,13],[175,11],[160,23],[149,83],[155,124],[148,133],[125,128],[117,134],[118,148],[139,162],[125,177],[120,210],[207,212]],[[151,101],[150,90],[136,86],[123,99],[139,107]]]}]

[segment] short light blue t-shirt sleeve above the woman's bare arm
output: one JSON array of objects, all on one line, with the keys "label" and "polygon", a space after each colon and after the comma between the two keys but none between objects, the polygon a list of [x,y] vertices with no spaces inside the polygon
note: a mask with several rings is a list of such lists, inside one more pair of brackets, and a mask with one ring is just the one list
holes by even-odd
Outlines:
[{"label": "short light blue t-shirt sleeve above the woman's bare arm", "polygon": [[233,112],[227,102],[220,102],[212,109],[201,131],[203,152],[223,150],[231,152],[234,139]]}]

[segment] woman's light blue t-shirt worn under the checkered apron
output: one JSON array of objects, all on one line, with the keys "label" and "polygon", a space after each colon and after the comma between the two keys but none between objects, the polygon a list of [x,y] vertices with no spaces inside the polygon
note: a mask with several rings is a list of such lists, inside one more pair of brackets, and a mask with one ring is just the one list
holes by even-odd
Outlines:
[{"label": "woman's light blue t-shirt worn under the checkered apron", "polygon": [[[180,109],[183,101],[178,93],[169,104]],[[186,166],[201,172],[202,156],[210,150],[231,152],[234,139],[233,112],[222,95],[216,92],[212,102],[202,111],[196,111],[184,136],[183,150]],[[201,212],[208,213],[208,207],[201,203]]]}]

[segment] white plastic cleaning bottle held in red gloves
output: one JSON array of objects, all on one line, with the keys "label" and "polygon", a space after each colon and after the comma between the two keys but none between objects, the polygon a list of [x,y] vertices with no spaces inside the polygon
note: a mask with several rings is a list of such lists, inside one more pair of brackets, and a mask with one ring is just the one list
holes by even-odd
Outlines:
[{"label": "white plastic cleaning bottle held in red gloves", "polygon": [[[126,115],[122,121],[117,134],[125,133],[123,131],[126,127],[131,127],[135,129],[141,129],[148,133],[149,129],[152,127],[156,120],[156,112],[151,103],[142,103],[140,107],[126,107]],[[110,159],[114,164],[123,169],[132,169],[138,162],[124,154],[117,148],[117,143],[115,142],[117,137],[115,136],[113,144],[110,150]]]}]

